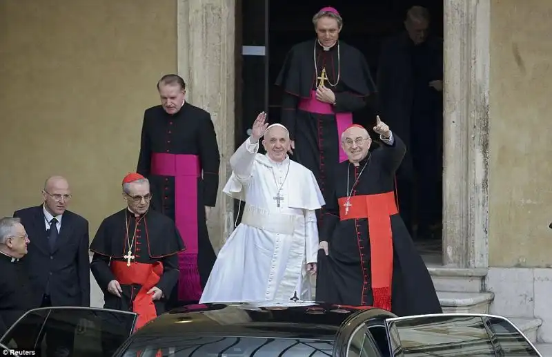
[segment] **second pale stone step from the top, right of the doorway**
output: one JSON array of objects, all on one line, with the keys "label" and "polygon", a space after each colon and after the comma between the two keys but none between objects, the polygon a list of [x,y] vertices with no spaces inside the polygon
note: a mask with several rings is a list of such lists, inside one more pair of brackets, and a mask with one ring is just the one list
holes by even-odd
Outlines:
[{"label": "second pale stone step from the top, right of the doorway", "polygon": [[494,293],[460,293],[437,291],[445,313],[489,313]]}]

